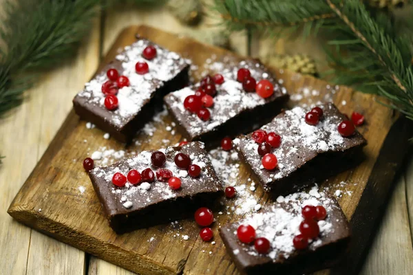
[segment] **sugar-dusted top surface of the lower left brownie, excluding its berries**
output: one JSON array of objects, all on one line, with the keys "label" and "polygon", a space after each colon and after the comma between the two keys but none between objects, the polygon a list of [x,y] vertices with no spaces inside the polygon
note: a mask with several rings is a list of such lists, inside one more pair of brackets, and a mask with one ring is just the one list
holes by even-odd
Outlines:
[{"label": "sugar-dusted top surface of the lower left brownie, excluding its berries", "polygon": [[[190,197],[202,192],[222,191],[220,179],[218,179],[215,170],[213,170],[211,160],[206,151],[204,151],[202,142],[191,142],[184,146],[168,147],[158,151],[165,153],[167,157],[167,162],[162,168],[171,170],[173,176],[181,179],[181,188],[172,190],[167,182],[158,181],[156,176],[155,181],[149,184],[142,183],[132,186],[127,183],[124,187],[114,186],[112,177],[116,172],[126,176],[129,170],[132,169],[142,172],[146,168],[151,168],[153,173],[156,173],[156,170],[159,168],[151,164],[151,155],[154,151],[142,151],[136,157],[125,159],[111,166],[94,168],[90,171],[89,175],[98,189],[107,214],[123,214],[140,210],[160,201],[176,199],[178,197]],[[173,159],[180,152],[189,155],[192,164],[200,166],[202,172],[199,177],[191,177],[188,175],[187,170],[176,166]]]}]

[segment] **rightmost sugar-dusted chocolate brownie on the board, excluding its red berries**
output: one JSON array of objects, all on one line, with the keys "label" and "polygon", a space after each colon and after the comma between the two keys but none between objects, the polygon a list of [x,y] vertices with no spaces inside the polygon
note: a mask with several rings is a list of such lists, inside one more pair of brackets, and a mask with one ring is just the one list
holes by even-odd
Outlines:
[{"label": "rightmost sugar-dusted chocolate brownie on the board, excluding its red berries", "polygon": [[262,126],[267,133],[281,136],[280,146],[270,149],[278,162],[273,170],[262,165],[263,157],[257,152],[259,144],[253,140],[253,133],[233,140],[240,159],[264,191],[275,197],[295,192],[354,166],[362,159],[364,137],[357,130],[348,137],[341,136],[337,128],[340,122],[347,120],[346,116],[332,103],[319,107],[324,115],[314,126],[305,121],[310,109],[301,107],[284,111]]}]

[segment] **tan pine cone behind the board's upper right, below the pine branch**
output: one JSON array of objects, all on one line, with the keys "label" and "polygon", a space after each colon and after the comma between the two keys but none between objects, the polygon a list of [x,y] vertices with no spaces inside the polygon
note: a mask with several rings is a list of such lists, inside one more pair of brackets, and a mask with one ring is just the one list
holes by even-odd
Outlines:
[{"label": "tan pine cone behind the board's upper right, below the pine branch", "polygon": [[300,74],[310,74],[313,76],[317,75],[317,69],[313,58],[303,54],[275,54],[273,56],[269,56],[266,63],[279,69],[288,69],[292,72],[297,72]]}]

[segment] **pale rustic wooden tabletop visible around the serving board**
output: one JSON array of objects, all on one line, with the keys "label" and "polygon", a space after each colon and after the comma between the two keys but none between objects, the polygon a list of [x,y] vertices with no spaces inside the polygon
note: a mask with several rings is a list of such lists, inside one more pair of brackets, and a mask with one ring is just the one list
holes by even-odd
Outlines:
[{"label": "pale rustic wooden tabletop visible around the serving board", "polygon": [[[0,120],[0,153],[7,156],[0,168],[0,274],[131,274],[13,221],[6,210],[72,108],[74,94],[94,74],[118,32],[141,23],[169,32],[186,29],[164,8],[145,12],[125,8],[101,14],[72,61],[45,74],[25,103]],[[200,28],[209,23],[206,19]],[[319,45],[309,43],[279,41],[275,47],[279,52],[304,52],[322,58]],[[269,44],[253,41],[253,56],[264,56]],[[246,36],[235,34],[231,45],[236,52],[246,54]],[[413,274],[413,159],[394,184],[362,274]]]}]

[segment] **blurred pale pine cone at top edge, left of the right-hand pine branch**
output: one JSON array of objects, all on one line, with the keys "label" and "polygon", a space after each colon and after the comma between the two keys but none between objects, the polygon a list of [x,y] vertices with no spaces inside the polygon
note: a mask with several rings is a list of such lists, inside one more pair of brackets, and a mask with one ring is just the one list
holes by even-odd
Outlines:
[{"label": "blurred pale pine cone at top edge, left of the right-hand pine branch", "polygon": [[187,25],[198,24],[202,17],[200,0],[169,0],[167,8],[173,16]]}]

